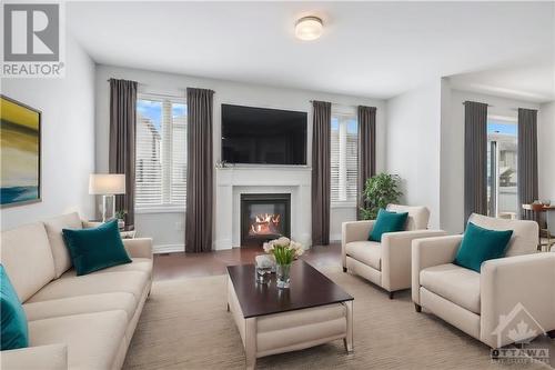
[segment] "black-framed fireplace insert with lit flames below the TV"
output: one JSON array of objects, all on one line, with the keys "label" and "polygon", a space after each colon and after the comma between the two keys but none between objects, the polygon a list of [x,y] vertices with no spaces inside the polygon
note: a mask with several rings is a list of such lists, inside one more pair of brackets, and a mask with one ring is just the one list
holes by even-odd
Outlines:
[{"label": "black-framed fireplace insert with lit flames below the TV", "polygon": [[241,194],[241,247],[291,237],[291,194]]}]

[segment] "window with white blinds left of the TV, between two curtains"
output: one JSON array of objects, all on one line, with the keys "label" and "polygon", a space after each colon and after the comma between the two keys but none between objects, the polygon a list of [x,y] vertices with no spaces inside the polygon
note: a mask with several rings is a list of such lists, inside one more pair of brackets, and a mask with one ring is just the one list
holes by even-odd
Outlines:
[{"label": "window with white blinds left of the TV, between two curtains", "polygon": [[135,207],[184,211],[186,104],[141,94],[137,101]]}]

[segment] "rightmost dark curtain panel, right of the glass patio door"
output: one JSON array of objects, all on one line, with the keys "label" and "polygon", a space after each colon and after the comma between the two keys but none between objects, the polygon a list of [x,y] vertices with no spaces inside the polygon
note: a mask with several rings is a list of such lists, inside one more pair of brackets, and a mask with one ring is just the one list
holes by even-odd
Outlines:
[{"label": "rightmost dark curtain panel, right of the glass patio door", "polygon": [[537,111],[518,108],[518,209],[521,219],[536,220],[534,212],[522,209],[538,198],[537,183]]}]

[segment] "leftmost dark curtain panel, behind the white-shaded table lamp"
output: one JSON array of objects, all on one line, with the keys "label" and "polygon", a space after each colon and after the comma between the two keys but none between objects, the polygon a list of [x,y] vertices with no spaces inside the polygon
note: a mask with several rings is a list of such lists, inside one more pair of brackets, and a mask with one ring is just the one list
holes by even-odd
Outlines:
[{"label": "leftmost dark curtain panel, behind the white-shaded table lamp", "polygon": [[110,173],[125,174],[125,193],[115,196],[115,210],[127,210],[134,226],[137,82],[110,79]]}]

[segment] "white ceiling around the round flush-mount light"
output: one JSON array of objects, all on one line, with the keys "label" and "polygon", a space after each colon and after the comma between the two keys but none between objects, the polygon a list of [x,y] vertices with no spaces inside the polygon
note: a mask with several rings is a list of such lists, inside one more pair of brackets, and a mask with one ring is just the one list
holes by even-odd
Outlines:
[{"label": "white ceiling around the round flush-mount light", "polygon": [[[546,100],[554,90],[554,8],[78,1],[65,12],[69,31],[98,63],[384,99],[463,73],[461,83],[485,81]],[[307,14],[324,21],[319,40],[294,38],[295,20]],[[532,80],[522,73],[507,78],[523,63]],[[536,86],[545,79],[547,86]]]}]

